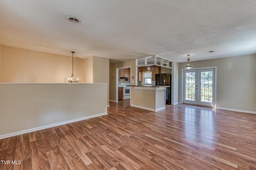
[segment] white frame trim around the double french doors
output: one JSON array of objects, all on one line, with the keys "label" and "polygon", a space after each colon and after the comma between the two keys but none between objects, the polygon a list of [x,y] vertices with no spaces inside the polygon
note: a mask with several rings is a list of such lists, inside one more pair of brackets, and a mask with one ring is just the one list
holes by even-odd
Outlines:
[{"label": "white frame trim around the double french doors", "polygon": [[[214,74],[215,74],[215,76],[214,76],[214,95],[215,95],[215,97],[214,97],[214,108],[216,108],[217,107],[217,67],[216,66],[213,66],[213,67],[200,67],[200,68],[191,68],[190,70],[199,70],[199,69],[207,69],[207,68],[214,68],[214,70],[215,70],[215,72],[214,72]],[[184,79],[184,74],[183,74],[183,72],[184,72],[184,70],[187,70],[186,68],[182,68],[182,71],[181,71],[181,103],[183,103],[183,92],[184,92],[184,90],[183,90],[183,88],[184,88],[184,81],[183,81],[183,79]]]}]

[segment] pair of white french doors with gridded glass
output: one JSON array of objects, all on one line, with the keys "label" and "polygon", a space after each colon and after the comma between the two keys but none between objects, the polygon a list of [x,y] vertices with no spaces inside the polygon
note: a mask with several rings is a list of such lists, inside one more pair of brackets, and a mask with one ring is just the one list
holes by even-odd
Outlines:
[{"label": "pair of white french doors with gridded glass", "polygon": [[214,106],[215,68],[183,71],[183,103]]}]

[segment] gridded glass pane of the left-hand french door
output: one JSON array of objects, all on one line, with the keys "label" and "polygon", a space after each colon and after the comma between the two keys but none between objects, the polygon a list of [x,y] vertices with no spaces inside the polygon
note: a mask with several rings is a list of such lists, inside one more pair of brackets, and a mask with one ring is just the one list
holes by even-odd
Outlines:
[{"label": "gridded glass pane of the left-hand french door", "polygon": [[186,72],[186,98],[188,101],[195,101],[196,72]]}]

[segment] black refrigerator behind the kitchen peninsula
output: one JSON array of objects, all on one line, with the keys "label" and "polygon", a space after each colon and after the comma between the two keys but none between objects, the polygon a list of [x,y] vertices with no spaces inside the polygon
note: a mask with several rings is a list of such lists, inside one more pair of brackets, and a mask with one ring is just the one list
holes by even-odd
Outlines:
[{"label": "black refrigerator behind the kitchen peninsula", "polygon": [[171,104],[172,74],[156,74],[156,86],[170,86],[166,88],[166,104]]}]

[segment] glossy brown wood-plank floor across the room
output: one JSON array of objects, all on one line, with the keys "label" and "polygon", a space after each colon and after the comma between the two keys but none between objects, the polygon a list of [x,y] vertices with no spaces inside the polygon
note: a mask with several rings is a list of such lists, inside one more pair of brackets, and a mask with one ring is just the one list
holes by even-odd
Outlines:
[{"label": "glossy brown wood-plank floor across the room", "polygon": [[129,105],[110,102],[108,115],[2,139],[0,169],[256,169],[255,114]]}]

